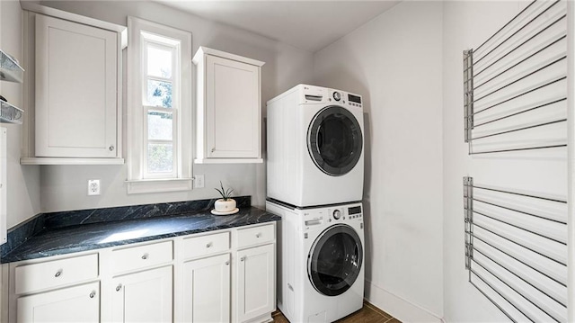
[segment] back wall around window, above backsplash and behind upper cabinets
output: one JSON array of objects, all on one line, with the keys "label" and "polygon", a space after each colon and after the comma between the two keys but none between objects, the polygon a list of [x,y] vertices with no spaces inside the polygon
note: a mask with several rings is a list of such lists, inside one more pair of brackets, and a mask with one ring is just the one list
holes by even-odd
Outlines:
[{"label": "back wall around window, above backsplash and behind upper cabinets", "polygon": [[[194,53],[199,46],[207,46],[264,61],[266,64],[262,68],[261,82],[264,115],[267,100],[293,85],[308,83],[312,79],[311,53],[252,32],[209,22],[162,4],[143,1],[54,1],[41,4],[121,25],[126,25],[127,15],[164,23],[190,31]],[[124,91],[125,89],[126,86]],[[124,184],[126,166],[41,166],[41,211],[212,198],[217,197],[213,188],[219,185],[220,180],[232,186],[238,195],[252,195],[254,205],[265,204],[265,164],[199,165],[194,166],[193,170],[194,174],[206,175],[206,188],[181,193],[128,195]],[[102,180],[101,196],[87,196],[86,185],[89,178]]]}]

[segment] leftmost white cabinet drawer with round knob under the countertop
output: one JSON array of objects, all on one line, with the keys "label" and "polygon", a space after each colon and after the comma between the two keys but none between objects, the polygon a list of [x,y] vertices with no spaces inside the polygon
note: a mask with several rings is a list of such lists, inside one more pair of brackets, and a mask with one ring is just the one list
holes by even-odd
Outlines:
[{"label": "leftmost white cabinet drawer with round knob under the countertop", "polygon": [[16,293],[35,292],[98,278],[98,255],[21,265],[14,271]]}]

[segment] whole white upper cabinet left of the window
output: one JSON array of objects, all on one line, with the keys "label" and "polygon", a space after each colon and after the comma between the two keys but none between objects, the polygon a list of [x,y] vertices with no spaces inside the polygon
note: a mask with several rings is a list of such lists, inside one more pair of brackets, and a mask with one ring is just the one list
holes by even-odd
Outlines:
[{"label": "whole white upper cabinet left of the window", "polygon": [[121,28],[49,13],[60,17],[26,12],[24,20],[33,86],[25,86],[31,113],[21,163],[123,164]]}]

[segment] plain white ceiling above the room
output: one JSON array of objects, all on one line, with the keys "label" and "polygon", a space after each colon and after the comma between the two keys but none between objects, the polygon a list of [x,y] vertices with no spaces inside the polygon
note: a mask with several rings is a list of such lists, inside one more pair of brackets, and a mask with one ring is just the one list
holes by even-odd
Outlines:
[{"label": "plain white ceiling above the room", "polygon": [[272,40],[315,52],[399,1],[155,0]]}]

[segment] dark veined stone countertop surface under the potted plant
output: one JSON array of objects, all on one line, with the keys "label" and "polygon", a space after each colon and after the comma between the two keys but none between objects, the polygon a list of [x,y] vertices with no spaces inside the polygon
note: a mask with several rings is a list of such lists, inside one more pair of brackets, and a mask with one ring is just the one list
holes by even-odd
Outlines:
[{"label": "dark veined stone countertop surface under the potted plant", "polygon": [[4,264],[25,259],[64,255],[280,219],[279,216],[267,211],[246,206],[238,213],[226,216],[213,215],[208,210],[199,210],[172,215],[49,227],[40,229],[3,254],[1,262]]}]

